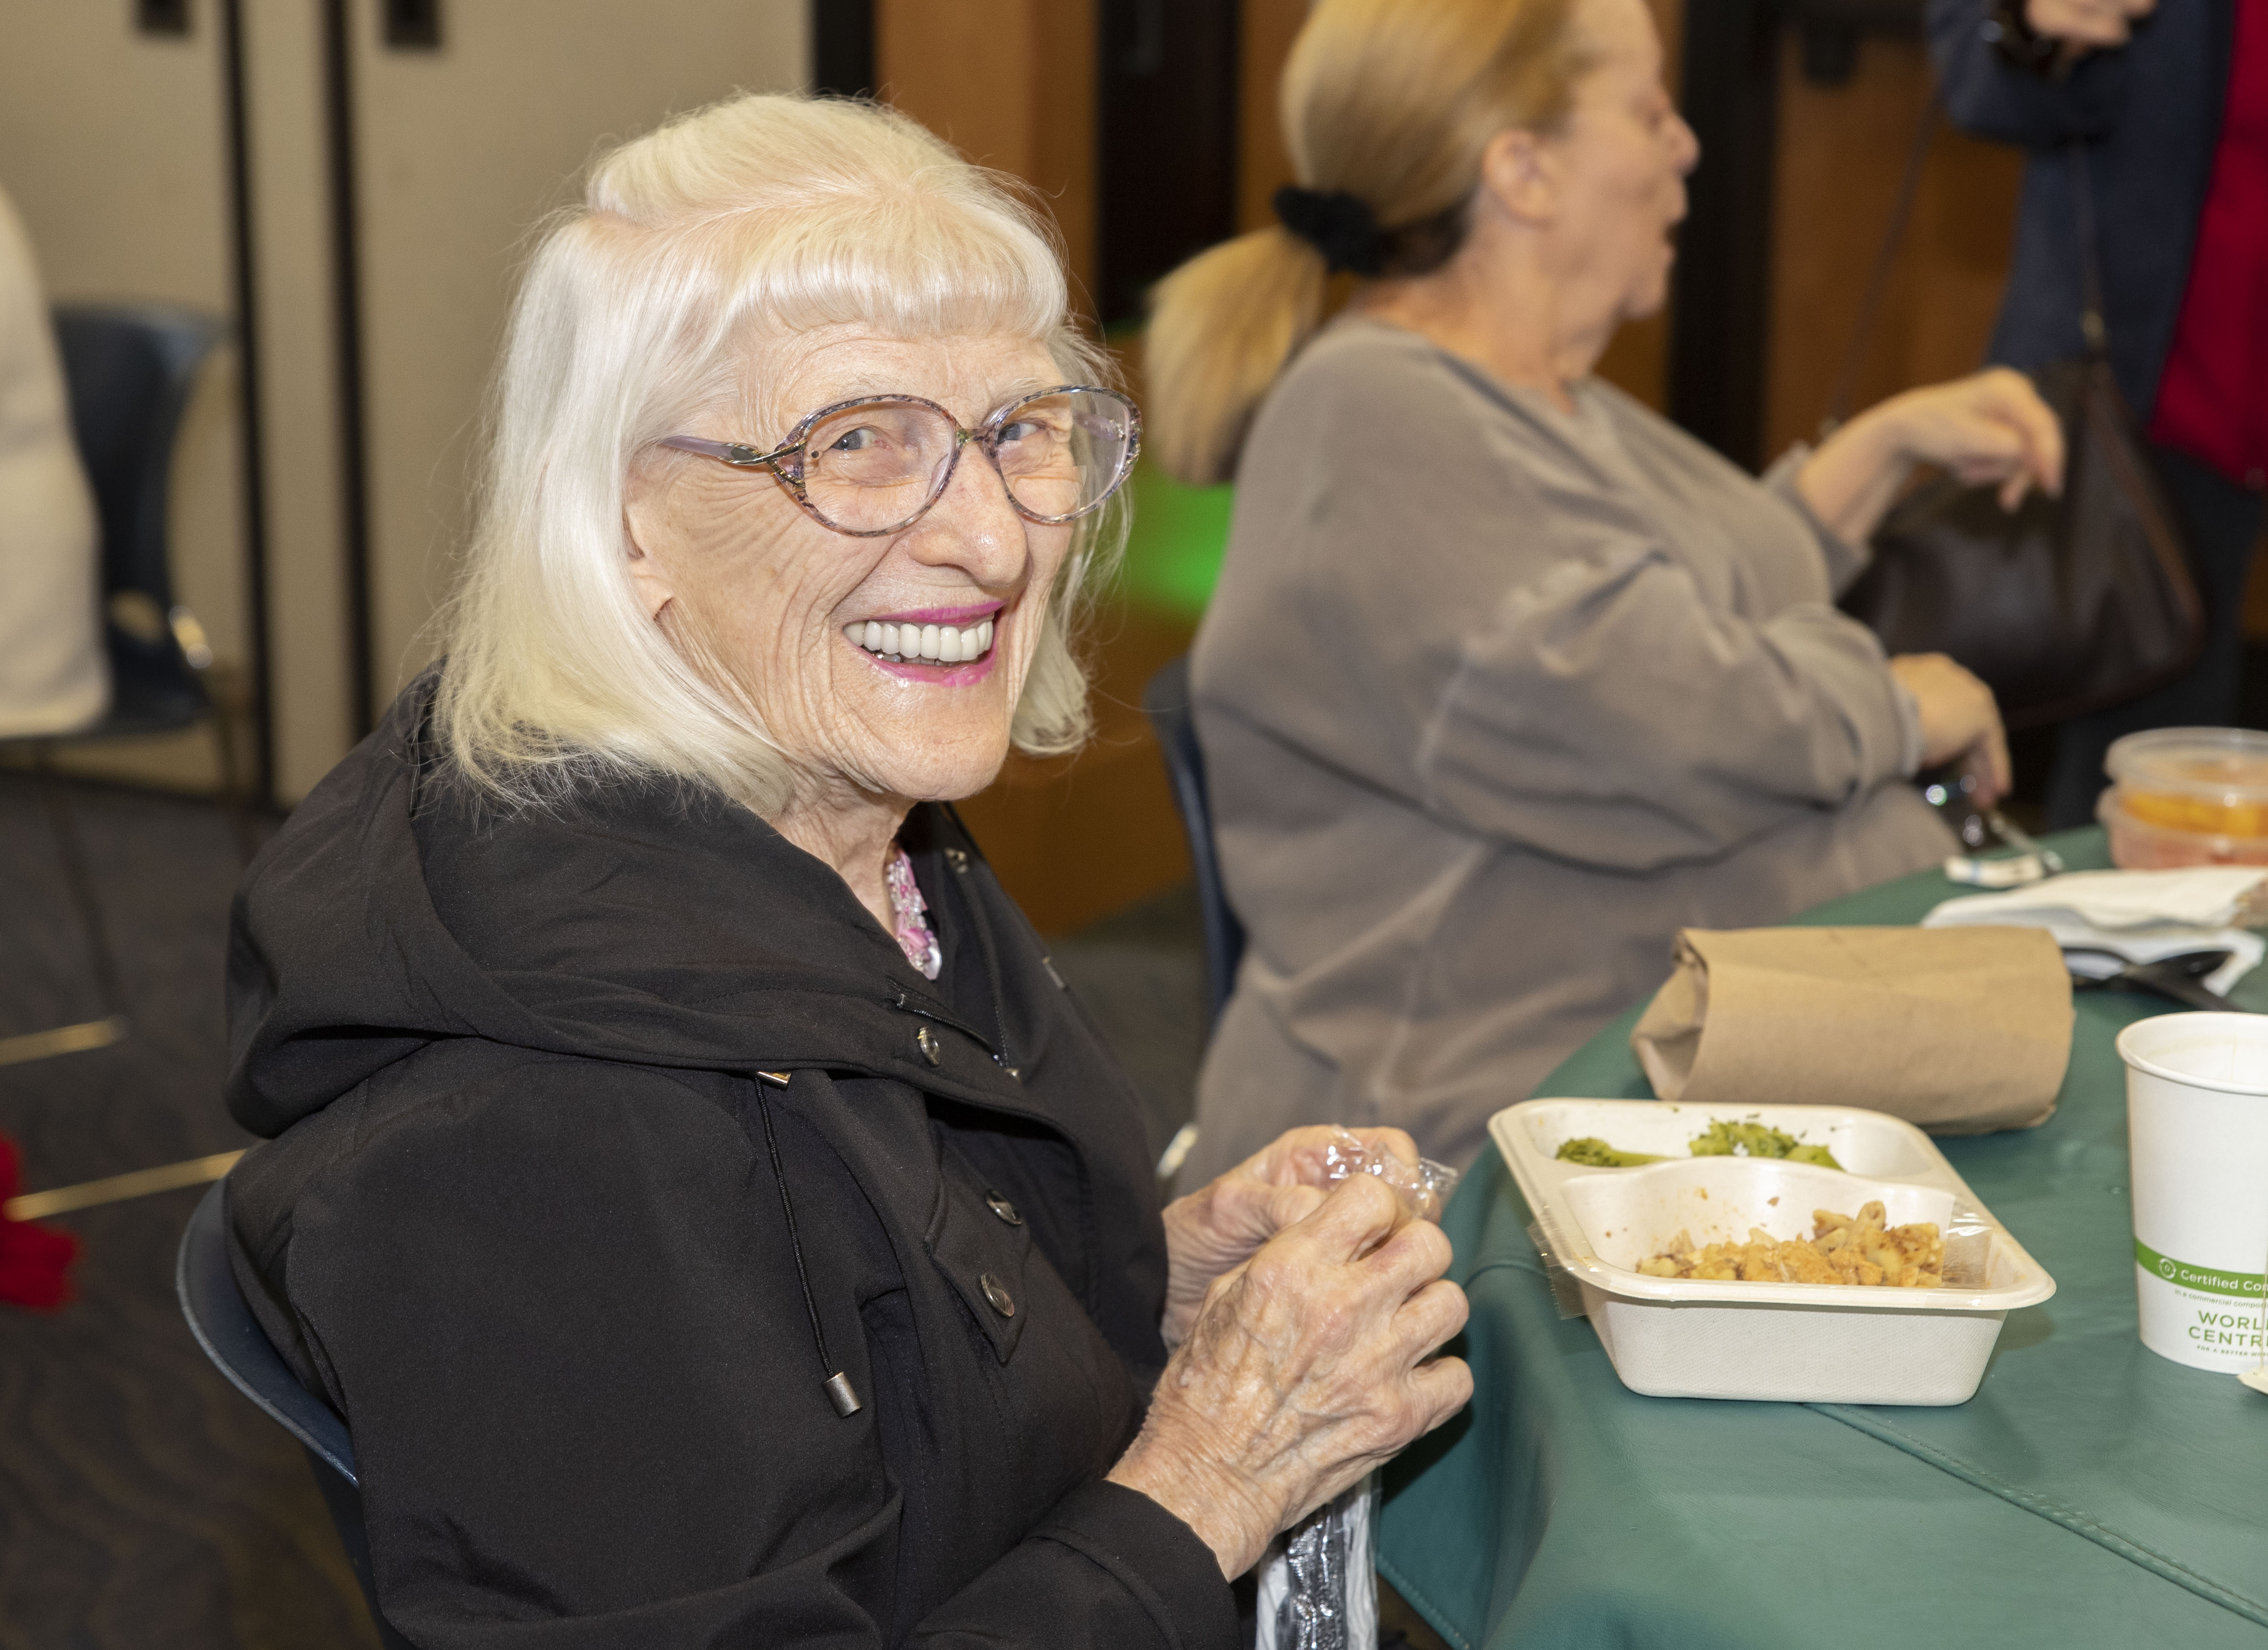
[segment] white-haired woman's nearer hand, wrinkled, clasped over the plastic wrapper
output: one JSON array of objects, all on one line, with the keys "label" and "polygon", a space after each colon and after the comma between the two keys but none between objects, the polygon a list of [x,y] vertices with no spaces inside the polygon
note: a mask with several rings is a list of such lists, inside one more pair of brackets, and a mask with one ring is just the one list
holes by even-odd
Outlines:
[{"label": "white-haired woman's nearer hand, wrinkled, clasped over the plastic wrapper", "polygon": [[1427,1362],[1465,1326],[1447,1265],[1438,1226],[1383,1181],[1347,1179],[1213,1281],[1111,1482],[1243,1575],[1277,1530],[1465,1407],[1465,1362]]}]

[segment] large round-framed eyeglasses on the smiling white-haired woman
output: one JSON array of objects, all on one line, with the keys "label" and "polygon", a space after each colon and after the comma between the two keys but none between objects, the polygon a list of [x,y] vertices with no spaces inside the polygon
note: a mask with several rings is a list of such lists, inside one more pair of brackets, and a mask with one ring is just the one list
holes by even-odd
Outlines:
[{"label": "large round-framed eyeglasses on the smiling white-haired woman", "polygon": [[968,442],[1000,471],[1016,514],[1059,526],[1118,492],[1141,451],[1141,412],[1114,390],[1066,383],[964,431],[934,401],[864,394],[819,408],[769,453],[699,435],[671,435],[660,446],[733,469],[769,469],[819,526],[873,539],[928,514]]}]

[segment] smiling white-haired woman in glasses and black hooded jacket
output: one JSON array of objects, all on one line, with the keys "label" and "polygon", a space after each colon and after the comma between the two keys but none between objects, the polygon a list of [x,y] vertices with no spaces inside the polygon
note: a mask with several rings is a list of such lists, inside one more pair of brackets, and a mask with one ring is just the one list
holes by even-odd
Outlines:
[{"label": "smiling white-haired woman in glasses and black hooded jacket", "polygon": [[1161,1222],[941,805],[1084,728],[1102,376],[1034,222],[862,104],[685,118],[538,249],[447,662],[229,977],[238,1274],[411,1641],[1225,1648],[1465,1401],[1445,1240],[1318,1133]]}]

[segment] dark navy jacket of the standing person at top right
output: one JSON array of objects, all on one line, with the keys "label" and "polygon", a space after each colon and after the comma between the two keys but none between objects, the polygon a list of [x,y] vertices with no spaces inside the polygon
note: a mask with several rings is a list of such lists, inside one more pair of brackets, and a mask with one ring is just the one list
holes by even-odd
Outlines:
[{"label": "dark navy jacket of the standing person at top right", "polygon": [[2148,426],[2220,141],[2234,0],[2161,0],[2127,45],[2089,52],[2062,79],[1994,52],[1984,39],[1991,11],[1994,0],[1930,0],[1930,48],[1953,125],[2032,152],[1991,358],[2032,372],[2084,347],[2080,213],[2066,150],[2080,138],[2112,369]]}]

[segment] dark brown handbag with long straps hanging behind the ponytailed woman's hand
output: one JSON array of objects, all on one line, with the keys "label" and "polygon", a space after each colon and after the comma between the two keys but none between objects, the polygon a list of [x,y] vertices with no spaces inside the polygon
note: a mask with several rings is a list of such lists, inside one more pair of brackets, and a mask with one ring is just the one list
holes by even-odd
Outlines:
[{"label": "dark brown handbag with long straps hanging behind the ponytailed woman's hand", "polygon": [[[1935,129],[1932,97],[1826,428],[1848,406]],[[2077,145],[2071,172],[2087,351],[2032,376],[2064,424],[2064,496],[2034,490],[2005,512],[1996,485],[1926,480],[1882,519],[1873,564],[1842,596],[1842,610],[1885,650],[1946,653],[1980,675],[2009,730],[2139,698],[2191,671],[2204,650],[2189,548],[2105,356],[2093,199]]]}]

